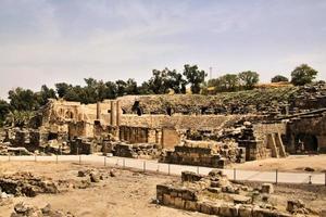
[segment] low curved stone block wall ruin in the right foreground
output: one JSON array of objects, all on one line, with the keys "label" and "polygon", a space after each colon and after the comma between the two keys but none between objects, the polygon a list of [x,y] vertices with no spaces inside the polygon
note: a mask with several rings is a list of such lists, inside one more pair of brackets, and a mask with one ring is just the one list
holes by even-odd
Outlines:
[{"label": "low curved stone block wall ruin in the right foreground", "polygon": [[156,186],[156,202],[222,217],[316,215],[300,200],[288,200],[288,204],[276,207],[271,200],[273,193],[271,183],[253,189],[229,181],[220,170],[212,170],[208,176],[183,171],[180,182]]}]

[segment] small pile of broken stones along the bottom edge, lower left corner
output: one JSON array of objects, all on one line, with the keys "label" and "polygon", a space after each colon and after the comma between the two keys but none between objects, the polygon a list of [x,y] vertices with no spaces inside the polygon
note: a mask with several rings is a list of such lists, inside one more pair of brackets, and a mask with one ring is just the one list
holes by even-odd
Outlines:
[{"label": "small pile of broken stones along the bottom edge, lower left corner", "polygon": [[17,203],[14,206],[14,212],[11,217],[74,217],[70,212],[64,213],[62,210],[55,210],[50,204],[46,205],[43,208],[33,206],[30,204],[25,204],[23,202]]}]

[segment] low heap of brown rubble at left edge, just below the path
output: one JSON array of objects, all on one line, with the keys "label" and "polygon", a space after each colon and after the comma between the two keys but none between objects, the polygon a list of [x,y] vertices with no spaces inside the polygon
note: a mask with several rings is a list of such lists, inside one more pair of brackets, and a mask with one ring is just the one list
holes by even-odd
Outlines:
[{"label": "low heap of brown rubble at left edge, just below the path", "polygon": [[36,196],[39,193],[59,193],[57,184],[43,177],[30,173],[16,173],[0,176],[1,192],[14,196]]}]

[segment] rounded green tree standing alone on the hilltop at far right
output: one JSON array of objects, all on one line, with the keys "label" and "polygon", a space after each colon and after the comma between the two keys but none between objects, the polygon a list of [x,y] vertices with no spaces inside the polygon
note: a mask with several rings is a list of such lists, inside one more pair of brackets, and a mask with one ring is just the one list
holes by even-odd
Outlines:
[{"label": "rounded green tree standing alone on the hilltop at far right", "polygon": [[310,84],[316,78],[318,72],[309,66],[308,64],[301,64],[297,66],[291,73],[291,82],[294,86],[303,86]]}]

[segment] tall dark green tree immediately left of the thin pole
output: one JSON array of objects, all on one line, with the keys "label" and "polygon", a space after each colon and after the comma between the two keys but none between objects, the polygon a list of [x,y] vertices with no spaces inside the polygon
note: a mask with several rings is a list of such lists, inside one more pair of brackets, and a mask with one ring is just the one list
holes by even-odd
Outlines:
[{"label": "tall dark green tree immediately left of the thin pole", "polygon": [[191,92],[197,94],[200,93],[200,85],[205,80],[208,76],[204,71],[198,69],[197,65],[185,65],[184,66],[184,76],[187,79],[187,82],[190,84]]}]

